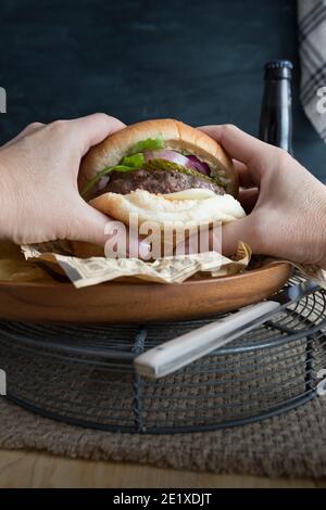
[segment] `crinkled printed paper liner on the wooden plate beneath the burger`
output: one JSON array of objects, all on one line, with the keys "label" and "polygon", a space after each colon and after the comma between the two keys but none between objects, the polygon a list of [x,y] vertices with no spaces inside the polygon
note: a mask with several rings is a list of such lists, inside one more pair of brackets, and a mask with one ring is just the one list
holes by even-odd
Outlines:
[{"label": "crinkled printed paper liner on the wooden plate beneath the burger", "polygon": [[[181,283],[200,273],[213,278],[236,275],[243,271],[251,259],[251,250],[243,242],[233,258],[224,257],[216,252],[185,256],[164,257],[154,262],[137,258],[77,258],[72,255],[67,242],[42,243],[22,246],[26,259],[42,260],[59,265],[72,283],[77,288],[95,285],[117,278],[137,278],[160,283]],[[261,265],[288,263],[304,277],[326,289],[326,270],[314,265],[296,264],[290,260],[261,257]]]}]

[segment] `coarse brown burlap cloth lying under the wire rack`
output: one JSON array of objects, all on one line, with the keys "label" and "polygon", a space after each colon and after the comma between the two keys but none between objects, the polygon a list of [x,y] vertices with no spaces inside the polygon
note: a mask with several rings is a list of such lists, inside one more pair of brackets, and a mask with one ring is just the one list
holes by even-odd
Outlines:
[{"label": "coarse brown burlap cloth lying under the wire rack", "polygon": [[326,476],[326,399],[227,430],[174,435],[100,432],[30,413],[0,397],[0,447],[95,460],[265,476]]}]

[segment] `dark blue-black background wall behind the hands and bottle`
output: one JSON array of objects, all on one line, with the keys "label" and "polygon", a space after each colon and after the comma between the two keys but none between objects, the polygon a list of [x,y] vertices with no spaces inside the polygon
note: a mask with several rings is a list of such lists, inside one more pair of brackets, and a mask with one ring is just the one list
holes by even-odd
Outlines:
[{"label": "dark blue-black background wall behind the hands and bottle", "polygon": [[256,135],[264,62],[294,62],[293,145],[326,181],[326,146],[298,98],[294,0],[1,0],[0,143],[26,124],[101,111]]}]

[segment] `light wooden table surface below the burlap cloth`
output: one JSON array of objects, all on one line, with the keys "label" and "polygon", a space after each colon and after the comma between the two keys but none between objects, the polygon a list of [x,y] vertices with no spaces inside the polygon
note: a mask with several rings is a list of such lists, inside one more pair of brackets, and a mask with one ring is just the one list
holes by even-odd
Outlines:
[{"label": "light wooden table surface below the burlap cloth", "polygon": [[64,459],[43,452],[0,450],[1,488],[239,488],[326,487],[326,480],[216,475],[148,466]]}]

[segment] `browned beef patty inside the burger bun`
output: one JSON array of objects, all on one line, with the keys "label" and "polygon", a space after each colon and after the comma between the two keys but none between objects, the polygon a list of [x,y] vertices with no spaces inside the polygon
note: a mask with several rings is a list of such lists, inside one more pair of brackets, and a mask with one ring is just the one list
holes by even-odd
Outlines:
[{"label": "browned beef patty inside the burger bun", "polygon": [[109,183],[103,192],[128,194],[130,191],[146,190],[150,193],[174,193],[191,188],[204,188],[216,194],[224,194],[225,190],[213,180],[181,174],[177,170],[134,170],[128,173],[112,171]]}]

